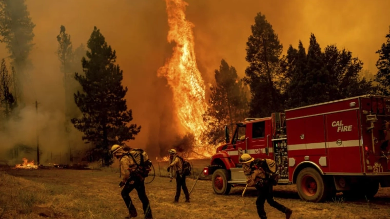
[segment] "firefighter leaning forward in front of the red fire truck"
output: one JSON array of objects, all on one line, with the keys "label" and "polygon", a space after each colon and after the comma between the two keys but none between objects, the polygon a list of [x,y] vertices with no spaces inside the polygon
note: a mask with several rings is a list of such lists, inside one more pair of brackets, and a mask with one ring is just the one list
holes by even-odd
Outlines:
[{"label": "firefighter leaning forward in front of the red fire truck", "polygon": [[[258,191],[258,197],[256,200],[257,213],[261,219],[266,219],[266,213],[264,210],[264,203],[267,200],[268,204],[279,211],[286,214],[286,219],[290,218],[293,210],[279,204],[274,200],[273,185],[267,182],[267,174],[264,168],[269,168],[272,172],[276,170],[275,161],[270,159],[254,159],[249,154],[243,154],[240,157],[240,163],[242,163],[242,169],[246,175],[246,182],[248,186],[255,185]],[[267,166],[265,166],[267,165]]]}]

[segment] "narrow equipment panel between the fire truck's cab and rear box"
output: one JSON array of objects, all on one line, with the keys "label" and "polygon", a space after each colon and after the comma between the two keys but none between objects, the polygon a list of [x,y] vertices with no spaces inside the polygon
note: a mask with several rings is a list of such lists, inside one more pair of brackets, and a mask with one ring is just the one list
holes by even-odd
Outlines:
[{"label": "narrow equipment panel between the fire truck's cab and rear box", "polygon": [[279,170],[280,178],[288,180],[288,157],[287,157],[287,141],[274,141],[275,163]]}]

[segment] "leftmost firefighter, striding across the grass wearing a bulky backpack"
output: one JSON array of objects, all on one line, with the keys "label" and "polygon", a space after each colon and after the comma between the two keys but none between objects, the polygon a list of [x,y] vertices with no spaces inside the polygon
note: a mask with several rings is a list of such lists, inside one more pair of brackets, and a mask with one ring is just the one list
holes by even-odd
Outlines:
[{"label": "leftmost firefighter, striding across the grass wearing a bulky backpack", "polygon": [[[141,162],[141,158],[140,156],[133,156],[135,160],[134,161],[133,158],[126,155],[128,151],[125,151],[125,149],[126,148],[124,148],[123,146],[117,144],[111,147],[112,155],[115,156],[116,159],[119,159],[121,176],[123,176],[119,186],[121,188],[124,186],[121,195],[123,201],[125,201],[126,207],[129,210],[129,215],[125,218],[133,218],[138,215],[129,195],[133,189],[137,191],[138,197],[142,202],[142,208],[144,210],[145,218],[153,218],[152,211],[150,209],[149,199],[146,196],[145,192],[144,178],[141,176],[137,169],[137,163]],[[130,152],[131,148],[128,149]]]}]

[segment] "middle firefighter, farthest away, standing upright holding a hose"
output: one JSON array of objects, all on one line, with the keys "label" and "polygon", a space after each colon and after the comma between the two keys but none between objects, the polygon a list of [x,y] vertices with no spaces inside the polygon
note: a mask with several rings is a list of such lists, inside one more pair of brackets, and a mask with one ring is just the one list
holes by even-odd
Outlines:
[{"label": "middle firefighter, farthest away, standing upright holding a hose", "polygon": [[174,196],[173,203],[179,202],[180,192],[183,188],[184,195],[186,196],[186,201],[189,202],[189,193],[186,185],[186,176],[182,174],[183,163],[178,157],[178,154],[175,149],[168,150],[169,152],[169,167],[168,172],[173,173],[173,176],[176,177],[176,195]]}]

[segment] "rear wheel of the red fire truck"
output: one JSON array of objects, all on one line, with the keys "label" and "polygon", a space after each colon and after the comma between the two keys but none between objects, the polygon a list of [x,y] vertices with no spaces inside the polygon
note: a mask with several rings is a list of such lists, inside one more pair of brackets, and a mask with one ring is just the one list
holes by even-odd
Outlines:
[{"label": "rear wheel of the red fire truck", "polygon": [[326,199],[326,183],[321,174],[311,167],[298,173],[297,190],[304,201],[321,202]]}]

